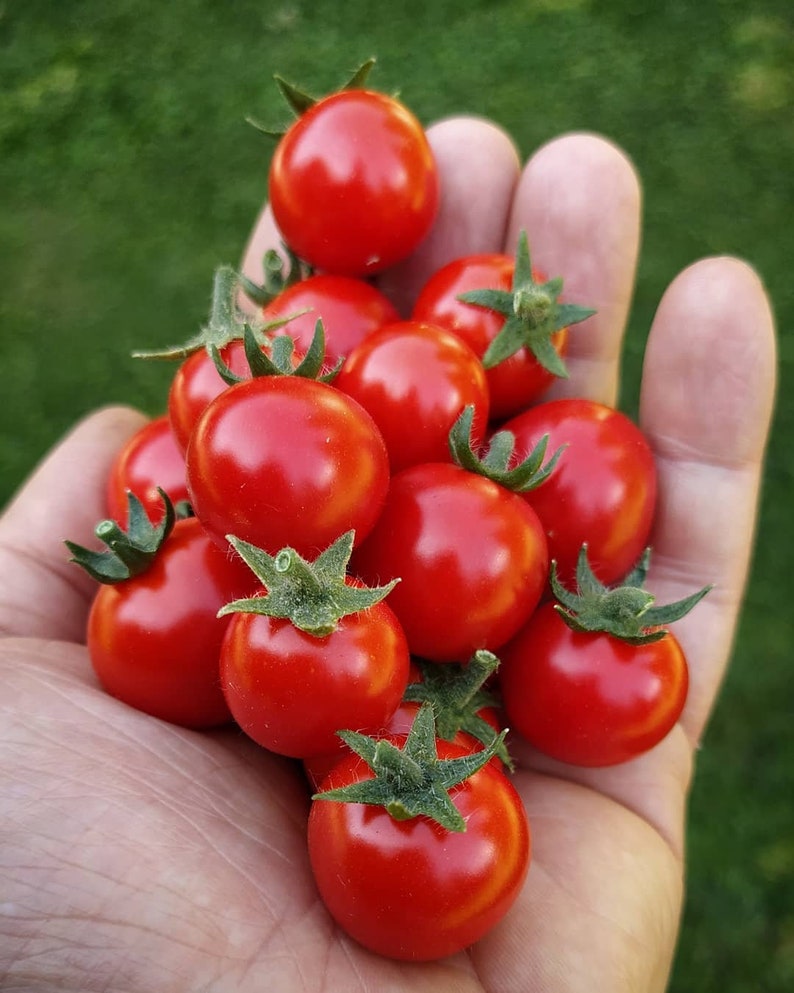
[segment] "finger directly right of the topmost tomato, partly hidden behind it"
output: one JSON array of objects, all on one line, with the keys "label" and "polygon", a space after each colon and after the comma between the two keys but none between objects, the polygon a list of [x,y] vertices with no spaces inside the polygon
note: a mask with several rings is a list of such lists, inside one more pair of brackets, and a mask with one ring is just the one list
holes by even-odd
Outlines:
[{"label": "finger directly right of the topmost tomato, partly hidden behind it", "polygon": [[448,118],[431,125],[427,137],[439,172],[438,217],[417,251],[378,281],[405,314],[442,265],[463,255],[502,251],[520,168],[512,140],[490,121]]}]

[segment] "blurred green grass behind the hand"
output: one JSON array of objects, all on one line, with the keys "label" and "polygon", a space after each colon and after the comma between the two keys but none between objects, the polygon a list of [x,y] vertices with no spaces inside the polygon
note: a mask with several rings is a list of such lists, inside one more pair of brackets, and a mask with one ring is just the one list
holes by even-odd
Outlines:
[{"label": "blurred green grass behind the hand", "polygon": [[[789,513],[794,262],[790,0],[6,0],[0,5],[0,504],[79,415],[154,413],[170,368],[131,349],[203,321],[264,197],[272,74],[375,81],[425,121],[473,112],[524,155],[569,129],[623,145],[645,186],[622,405],[669,279],[734,253],[780,327],[781,387],[752,581],[700,755],[675,993],[794,988]],[[394,9],[392,9],[394,8]],[[696,331],[696,329],[693,329]]]}]

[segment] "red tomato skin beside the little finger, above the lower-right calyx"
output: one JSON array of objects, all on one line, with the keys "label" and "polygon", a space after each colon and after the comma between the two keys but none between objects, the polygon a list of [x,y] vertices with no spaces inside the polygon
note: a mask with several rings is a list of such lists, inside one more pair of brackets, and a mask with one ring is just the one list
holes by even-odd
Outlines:
[{"label": "red tomato skin beside the little finger, above the lower-right calyx", "polygon": [[637,425],[604,404],[564,399],[538,404],[503,427],[519,453],[546,434],[549,453],[565,446],[549,479],[525,496],[563,583],[572,586],[584,542],[601,582],[620,582],[648,545],[656,507],[653,452]]}]

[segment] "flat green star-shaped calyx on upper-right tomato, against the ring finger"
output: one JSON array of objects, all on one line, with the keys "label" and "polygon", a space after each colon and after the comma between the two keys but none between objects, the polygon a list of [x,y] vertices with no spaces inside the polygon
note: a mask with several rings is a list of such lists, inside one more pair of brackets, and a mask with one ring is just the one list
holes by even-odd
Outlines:
[{"label": "flat green star-shaped calyx on upper-right tomato, against the ring finger", "polygon": [[529,257],[525,231],[518,237],[513,283],[509,290],[469,290],[458,297],[464,303],[487,307],[505,317],[502,329],[491,341],[482,362],[490,369],[528,348],[544,369],[567,378],[568,370],[552,343],[552,336],[571,324],[591,317],[595,311],[573,303],[560,303],[563,281],[560,277],[544,283],[536,281]]}]

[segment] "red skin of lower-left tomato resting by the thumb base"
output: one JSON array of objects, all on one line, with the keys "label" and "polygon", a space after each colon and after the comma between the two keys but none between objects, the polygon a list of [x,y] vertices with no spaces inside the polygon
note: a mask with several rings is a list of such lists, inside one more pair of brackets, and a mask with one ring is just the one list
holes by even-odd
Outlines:
[{"label": "red skin of lower-left tomato resting by the thumb base", "polygon": [[96,593],[87,644],[100,683],[182,727],[229,722],[218,674],[229,618],[216,614],[255,586],[242,559],[219,548],[195,518],[177,521],[144,573]]}]

